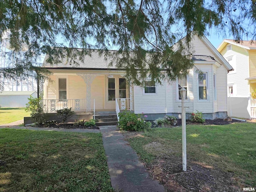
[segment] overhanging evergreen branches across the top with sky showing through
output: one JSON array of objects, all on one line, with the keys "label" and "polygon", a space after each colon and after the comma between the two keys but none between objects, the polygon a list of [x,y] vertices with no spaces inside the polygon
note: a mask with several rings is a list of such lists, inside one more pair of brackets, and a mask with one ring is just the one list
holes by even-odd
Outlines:
[{"label": "overhanging evergreen branches across the top with sky showing through", "polygon": [[51,64],[67,57],[76,66],[96,48],[134,84],[142,85],[147,74],[157,83],[175,80],[193,68],[193,34],[214,28],[239,42],[256,38],[255,23],[255,0],[0,0],[0,41],[10,44],[3,54],[13,62],[0,68],[0,77],[34,75],[42,54]]}]

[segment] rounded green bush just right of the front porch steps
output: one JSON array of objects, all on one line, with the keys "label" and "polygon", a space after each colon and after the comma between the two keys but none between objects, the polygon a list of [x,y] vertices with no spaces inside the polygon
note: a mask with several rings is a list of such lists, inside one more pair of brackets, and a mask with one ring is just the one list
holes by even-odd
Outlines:
[{"label": "rounded green bush just right of the front porch steps", "polygon": [[119,113],[119,128],[120,130],[126,131],[142,131],[151,127],[150,122],[146,122],[144,118],[142,118],[142,114],[134,114],[130,112],[122,112]]}]

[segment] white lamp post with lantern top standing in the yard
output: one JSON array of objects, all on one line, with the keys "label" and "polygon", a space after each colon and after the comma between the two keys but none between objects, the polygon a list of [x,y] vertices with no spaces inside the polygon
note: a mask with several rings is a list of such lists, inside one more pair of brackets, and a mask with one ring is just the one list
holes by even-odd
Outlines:
[{"label": "white lamp post with lantern top standing in the yard", "polygon": [[187,148],[186,148],[186,98],[187,90],[182,87],[180,89],[181,95],[181,117],[182,117],[182,170],[187,171]]}]

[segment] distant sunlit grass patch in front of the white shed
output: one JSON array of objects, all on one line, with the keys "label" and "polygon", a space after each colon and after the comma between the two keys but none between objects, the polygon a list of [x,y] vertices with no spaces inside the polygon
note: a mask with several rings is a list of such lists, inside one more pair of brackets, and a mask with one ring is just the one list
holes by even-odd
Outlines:
[{"label": "distant sunlit grass patch in front of the white shed", "polygon": [[25,108],[0,108],[0,125],[22,120],[28,116],[30,112],[26,112]]}]

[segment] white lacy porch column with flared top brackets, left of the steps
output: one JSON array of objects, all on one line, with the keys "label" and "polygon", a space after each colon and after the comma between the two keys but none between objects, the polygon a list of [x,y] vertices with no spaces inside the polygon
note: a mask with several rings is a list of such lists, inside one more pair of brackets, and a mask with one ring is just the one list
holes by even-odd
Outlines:
[{"label": "white lacy porch column with flared top brackets, left of the steps", "polygon": [[78,76],[82,77],[86,83],[86,112],[91,110],[91,84],[96,76],[99,74],[84,74],[77,73]]}]

